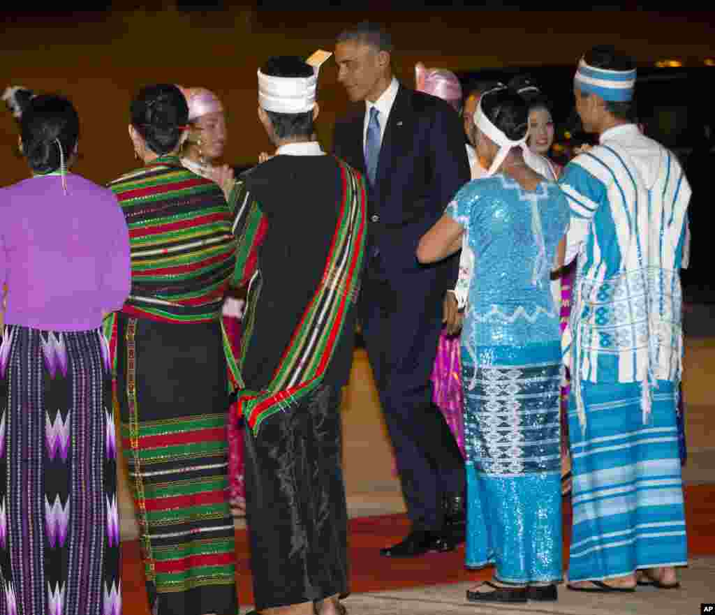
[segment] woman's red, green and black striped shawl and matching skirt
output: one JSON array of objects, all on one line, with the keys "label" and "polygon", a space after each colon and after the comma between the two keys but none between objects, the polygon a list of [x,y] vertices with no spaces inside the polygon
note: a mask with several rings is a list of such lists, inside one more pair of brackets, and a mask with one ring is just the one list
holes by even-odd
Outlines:
[{"label": "woman's red, green and black striped shawl and matching skirt", "polygon": [[109,187],[132,245],[132,292],[107,333],[149,607],[156,615],[236,615],[230,345],[220,323],[236,261],[232,212],[217,184],[174,157]]}]

